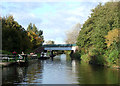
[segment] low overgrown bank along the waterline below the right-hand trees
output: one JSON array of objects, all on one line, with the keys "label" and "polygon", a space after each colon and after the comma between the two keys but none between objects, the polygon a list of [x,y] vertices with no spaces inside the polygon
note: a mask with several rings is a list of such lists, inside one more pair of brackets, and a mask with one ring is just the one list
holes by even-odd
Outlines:
[{"label": "low overgrown bank along the waterline below the right-hand trees", "polygon": [[93,66],[96,65],[96,66],[104,66],[106,68],[120,69],[120,58],[117,59],[117,61],[113,60],[114,63],[112,63],[107,61],[109,57],[105,58],[104,56],[94,56],[94,55],[91,56],[89,54],[81,55],[80,52],[78,51],[75,53],[69,53],[69,54],[71,59],[77,59],[79,61],[82,61],[87,64],[91,64]]}]

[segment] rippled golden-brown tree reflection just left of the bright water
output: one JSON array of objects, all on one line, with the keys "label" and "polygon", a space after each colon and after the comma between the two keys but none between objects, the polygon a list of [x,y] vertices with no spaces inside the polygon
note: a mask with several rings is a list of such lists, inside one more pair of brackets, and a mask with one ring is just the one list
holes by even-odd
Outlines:
[{"label": "rippled golden-brown tree reflection just left of the bright water", "polygon": [[37,64],[31,64],[27,68],[27,75],[24,78],[26,83],[41,83],[42,81],[42,70],[43,61],[39,61]]}]

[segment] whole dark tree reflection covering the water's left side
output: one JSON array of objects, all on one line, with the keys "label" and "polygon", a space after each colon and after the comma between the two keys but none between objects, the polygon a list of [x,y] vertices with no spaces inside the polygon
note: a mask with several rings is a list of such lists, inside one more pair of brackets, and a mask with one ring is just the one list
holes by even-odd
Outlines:
[{"label": "whole dark tree reflection covering the water's left side", "polygon": [[[37,62],[24,67],[11,66],[2,70],[2,84],[41,83],[43,62]],[[36,80],[36,81],[35,81]]]}]

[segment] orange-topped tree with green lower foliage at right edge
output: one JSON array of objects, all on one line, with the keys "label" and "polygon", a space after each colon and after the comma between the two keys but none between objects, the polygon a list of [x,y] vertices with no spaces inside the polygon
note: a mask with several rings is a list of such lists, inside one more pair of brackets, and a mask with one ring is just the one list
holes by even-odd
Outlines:
[{"label": "orange-topped tree with green lower foliage at right edge", "polygon": [[120,58],[120,29],[113,29],[105,36],[107,43],[106,57],[107,62],[113,64],[119,64]]}]

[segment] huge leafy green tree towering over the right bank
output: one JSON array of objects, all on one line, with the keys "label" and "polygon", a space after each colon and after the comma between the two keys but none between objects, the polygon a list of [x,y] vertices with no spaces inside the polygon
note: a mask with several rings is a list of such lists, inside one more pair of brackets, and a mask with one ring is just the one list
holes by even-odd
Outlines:
[{"label": "huge leafy green tree towering over the right bank", "polygon": [[[91,51],[92,48],[99,52],[99,55],[94,52],[96,55],[92,55],[93,57],[106,59],[107,57],[103,56],[106,55],[106,51],[109,51],[107,46],[112,43],[113,39],[110,38],[107,41],[105,36],[115,28],[120,28],[120,2],[107,2],[105,5],[100,3],[95,9],[92,9],[91,16],[79,32],[77,45],[81,54],[91,56],[89,52],[94,52],[94,50]],[[115,35],[115,33],[113,34]],[[110,35],[108,36],[110,37]],[[107,38],[109,38],[108,36]],[[117,43],[118,45],[119,43]],[[109,51],[109,54],[110,52],[112,51]]]}]

